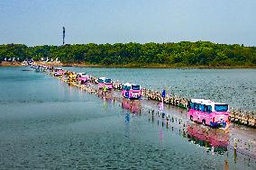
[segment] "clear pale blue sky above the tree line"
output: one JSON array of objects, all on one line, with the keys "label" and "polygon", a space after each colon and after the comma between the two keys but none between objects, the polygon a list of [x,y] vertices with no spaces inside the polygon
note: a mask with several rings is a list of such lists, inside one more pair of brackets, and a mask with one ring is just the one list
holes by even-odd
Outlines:
[{"label": "clear pale blue sky above the tree line", "polygon": [[256,46],[256,0],[0,0],[0,44],[178,42]]}]

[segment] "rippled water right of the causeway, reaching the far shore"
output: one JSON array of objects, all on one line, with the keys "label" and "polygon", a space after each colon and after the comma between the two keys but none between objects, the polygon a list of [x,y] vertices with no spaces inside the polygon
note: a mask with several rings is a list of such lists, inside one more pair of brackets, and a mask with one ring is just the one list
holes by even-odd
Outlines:
[{"label": "rippled water right of the causeway, reaching the far shore", "polygon": [[256,69],[66,68],[154,90],[166,88],[171,95],[210,99],[256,112]]}]

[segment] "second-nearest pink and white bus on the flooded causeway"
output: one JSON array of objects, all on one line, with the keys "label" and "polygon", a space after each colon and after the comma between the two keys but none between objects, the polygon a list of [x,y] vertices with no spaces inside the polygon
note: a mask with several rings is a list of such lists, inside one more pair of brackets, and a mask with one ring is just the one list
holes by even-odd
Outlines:
[{"label": "second-nearest pink and white bus on the flooded causeway", "polygon": [[140,99],[142,97],[141,86],[125,83],[122,87],[122,95],[128,99]]}]

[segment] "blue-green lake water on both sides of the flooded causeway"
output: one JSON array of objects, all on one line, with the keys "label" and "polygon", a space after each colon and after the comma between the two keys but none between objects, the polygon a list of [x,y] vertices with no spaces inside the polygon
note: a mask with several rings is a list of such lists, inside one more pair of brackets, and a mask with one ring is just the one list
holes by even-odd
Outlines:
[{"label": "blue-green lake water on both sides of the flooded causeway", "polygon": [[[123,102],[23,69],[30,68],[0,67],[0,169],[256,168],[255,157],[233,151],[231,134],[211,130],[227,139],[215,147],[217,140],[206,142],[193,131],[206,130],[201,125],[185,121],[184,127],[177,123],[168,129],[146,111],[130,112]],[[164,86],[177,95],[209,95],[255,111],[253,69],[67,69],[156,90]]]}]

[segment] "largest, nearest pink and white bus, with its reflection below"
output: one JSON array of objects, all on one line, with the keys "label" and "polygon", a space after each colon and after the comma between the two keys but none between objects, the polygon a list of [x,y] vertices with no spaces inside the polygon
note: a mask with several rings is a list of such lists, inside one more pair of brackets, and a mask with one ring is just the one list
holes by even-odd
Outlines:
[{"label": "largest, nearest pink and white bus, with its reflection below", "polygon": [[211,127],[228,127],[229,106],[210,100],[192,99],[188,106],[187,118]]}]

